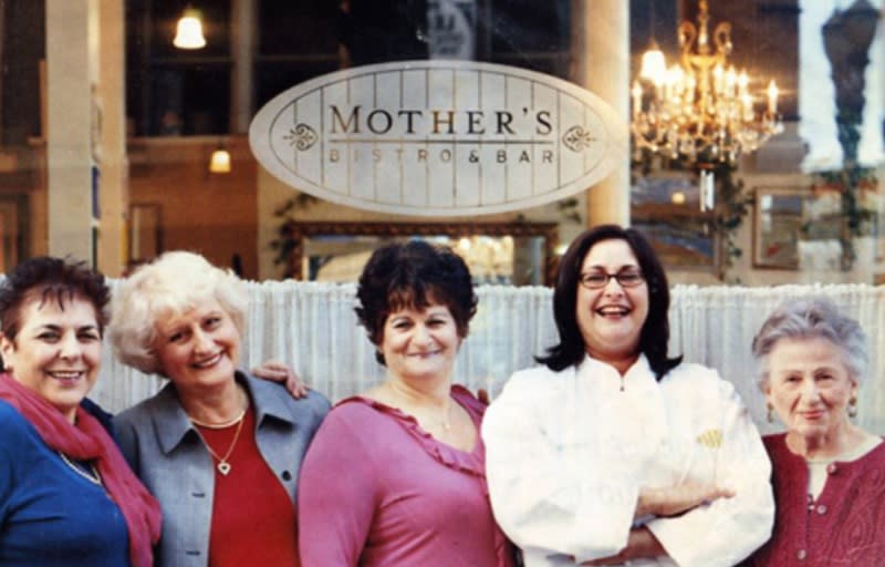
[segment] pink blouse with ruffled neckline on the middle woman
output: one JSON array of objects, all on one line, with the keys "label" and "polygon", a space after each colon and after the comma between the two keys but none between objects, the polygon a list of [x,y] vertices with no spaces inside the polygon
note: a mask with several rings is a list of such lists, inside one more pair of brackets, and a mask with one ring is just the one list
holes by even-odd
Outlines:
[{"label": "pink blouse with ruffled neckline on the middle woman", "polygon": [[[479,432],[470,392],[451,396]],[[512,567],[491,515],[479,434],[469,453],[435,440],[402,411],[342,400],[308,450],[299,481],[303,567]]]}]

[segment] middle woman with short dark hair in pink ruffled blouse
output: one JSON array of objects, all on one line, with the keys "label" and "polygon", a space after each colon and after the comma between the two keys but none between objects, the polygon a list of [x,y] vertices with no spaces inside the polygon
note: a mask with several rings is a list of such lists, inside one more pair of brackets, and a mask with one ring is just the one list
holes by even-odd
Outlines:
[{"label": "middle woman with short dark hair in pink ruffled blouse", "polygon": [[476,312],[464,260],[424,241],[376,250],[356,315],[387,379],[341,401],[299,482],[303,567],[512,567],[494,524],[479,425],[485,405],[452,385]]}]

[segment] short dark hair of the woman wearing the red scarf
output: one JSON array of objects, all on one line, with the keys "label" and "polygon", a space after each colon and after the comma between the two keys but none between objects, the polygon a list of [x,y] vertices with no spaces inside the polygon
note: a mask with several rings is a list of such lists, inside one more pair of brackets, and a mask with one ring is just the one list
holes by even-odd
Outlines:
[{"label": "short dark hair of the woman wearing the red scarf", "polygon": [[41,305],[55,301],[64,309],[66,301],[75,297],[86,298],[95,307],[98,332],[104,333],[108,315],[107,302],[111,290],[104,276],[93,270],[85,261],[71,258],[40,256],[30,258],[10,270],[0,282],[0,321],[3,334],[14,340],[21,330],[22,306],[33,298]]}]

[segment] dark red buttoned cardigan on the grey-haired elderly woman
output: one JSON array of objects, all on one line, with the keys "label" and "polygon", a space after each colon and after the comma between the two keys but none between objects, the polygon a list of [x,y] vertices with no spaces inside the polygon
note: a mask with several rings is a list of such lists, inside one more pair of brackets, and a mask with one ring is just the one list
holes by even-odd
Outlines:
[{"label": "dark red buttoned cardigan on the grey-haired elderly woman", "polygon": [[847,463],[827,466],[826,484],[809,502],[809,467],[767,435],[777,502],[774,530],[748,560],[752,566],[882,567],[885,561],[885,443]]}]

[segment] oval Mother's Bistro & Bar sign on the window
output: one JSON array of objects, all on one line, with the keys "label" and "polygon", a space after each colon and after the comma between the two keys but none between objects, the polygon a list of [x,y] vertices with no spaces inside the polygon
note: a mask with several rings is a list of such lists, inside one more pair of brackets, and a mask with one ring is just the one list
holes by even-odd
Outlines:
[{"label": "oval Mother's Bistro & Bar sign on the window", "polygon": [[418,216],[501,213],[584,190],[627,154],[593,93],[490,63],[347,69],[271,100],[249,128],[280,181],[351,207]]}]

